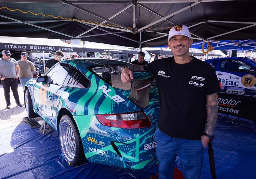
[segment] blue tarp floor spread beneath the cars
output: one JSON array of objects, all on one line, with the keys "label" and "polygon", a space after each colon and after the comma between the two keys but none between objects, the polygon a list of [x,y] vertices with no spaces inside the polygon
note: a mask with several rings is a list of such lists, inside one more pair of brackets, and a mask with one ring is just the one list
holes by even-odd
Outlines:
[{"label": "blue tarp floor spread beneath the cars", "polygon": [[[42,121],[41,121],[42,122]],[[218,179],[254,179],[256,166],[256,123],[219,114],[213,149]],[[0,130],[0,178],[104,178],[148,179],[158,166],[129,170],[95,163],[68,166],[59,158],[57,133],[41,134],[20,123]],[[180,168],[179,160],[176,166]],[[203,179],[210,179],[208,147],[204,152]]]}]

